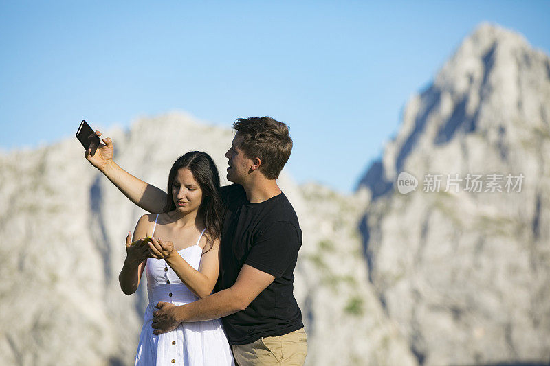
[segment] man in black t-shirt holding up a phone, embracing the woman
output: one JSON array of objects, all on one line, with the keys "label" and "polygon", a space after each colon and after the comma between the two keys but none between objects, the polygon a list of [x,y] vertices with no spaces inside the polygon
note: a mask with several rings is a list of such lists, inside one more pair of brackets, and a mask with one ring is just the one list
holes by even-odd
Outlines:
[{"label": "man in black t-shirt holding up a phone, embracing the woman", "polygon": [[[226,207],[221,233],[218,291],[184,306],[160,302],[155,334],[183,321],[223,317],[235,361],[241,365],[303,365],[307,354],[302,314],[293,295],[302,244],[298,218],[275,179],[292,151],[288,128],[271,117],[237,119],[221,187]],[[98,135],[100,133],[98,132]],[[133,203],[161,212],[166,193],[113,161],[111,139],[86,158]]]}]

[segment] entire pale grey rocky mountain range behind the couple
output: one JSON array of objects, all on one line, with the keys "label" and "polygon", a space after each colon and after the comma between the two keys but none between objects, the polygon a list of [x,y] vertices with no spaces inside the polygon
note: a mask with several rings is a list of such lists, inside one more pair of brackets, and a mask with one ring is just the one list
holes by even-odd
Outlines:
[{"label": "entire pale grey rocky mountain range behind the couple", "polygon": [[[223,172],[232,139],[183,113],[104,133],[159,187],[188,150]],[[549,57],[481,25],[408,102],[355,194],[283,174],[304,233],[307,364],[546,365],[547,152]],[[127,297],[117,276],[141,214],[76,139],[0,153],[1,365],[133,363],[146,286]]]}]

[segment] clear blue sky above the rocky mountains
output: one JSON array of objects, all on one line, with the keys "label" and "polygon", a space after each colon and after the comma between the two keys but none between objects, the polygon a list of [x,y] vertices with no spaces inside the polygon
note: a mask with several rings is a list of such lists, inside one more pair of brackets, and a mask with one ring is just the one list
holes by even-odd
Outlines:
[{"label": "clear blue sky above the rocky mountains", "polygon": [[548,1],[1,1],[0,148],[187,111],[291,128],[287,170],[351,192],[482,21],[550,53]]}]

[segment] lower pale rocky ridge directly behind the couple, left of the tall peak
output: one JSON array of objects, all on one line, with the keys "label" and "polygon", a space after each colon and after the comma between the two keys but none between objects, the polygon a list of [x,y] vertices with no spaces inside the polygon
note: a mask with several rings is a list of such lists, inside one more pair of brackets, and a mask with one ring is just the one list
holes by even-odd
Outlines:
[{"label": "lower pale rocky ridge directly behind the couple, left of the tall peak", "polygon": [[[120,165],[163,188],[189,150],[209,152],[225,176],[232,139],[177,113],[106,135]],[[127,297],[118,273],[126,233],[144,212],[85,161],[76,139],[0,155],[0,167],[0,364],[133,364],[146,283]],[[366,281],[357,229],[366,201],[284,174],[279,183],[304,232],[295,294],[308,364],[415,365]]]}]

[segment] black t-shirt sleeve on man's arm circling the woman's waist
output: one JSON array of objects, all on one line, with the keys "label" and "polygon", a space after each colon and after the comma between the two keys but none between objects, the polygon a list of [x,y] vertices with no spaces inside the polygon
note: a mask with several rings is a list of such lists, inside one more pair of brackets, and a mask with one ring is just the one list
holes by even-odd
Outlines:
[{"label": "black t-shirt sleeve on man's arm circling the woman's waist", "polygon": [[274,277],[281,277],[296,262],[300,245],[298,231],[292,223],[274,222],[259,234],[245,263]]}]

